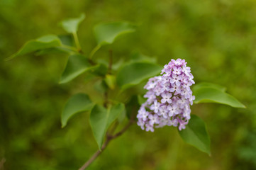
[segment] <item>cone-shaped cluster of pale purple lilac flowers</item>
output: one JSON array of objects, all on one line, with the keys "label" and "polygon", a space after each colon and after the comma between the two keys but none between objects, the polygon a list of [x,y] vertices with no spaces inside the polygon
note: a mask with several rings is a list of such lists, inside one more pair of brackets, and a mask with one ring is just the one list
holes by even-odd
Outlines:
[{"label": "cone-shaped cluster of pale purple lilac flowers", "polygon": [[138,125],[146,131],[165,125],[186,128],[190,119],[190,106],[195,99],[190,86],[194,84],[190,67],[185,60],[171,60],[162,69],[162,76],[152,77],[145,85],[148,92],[145,103],[138,111]]}]

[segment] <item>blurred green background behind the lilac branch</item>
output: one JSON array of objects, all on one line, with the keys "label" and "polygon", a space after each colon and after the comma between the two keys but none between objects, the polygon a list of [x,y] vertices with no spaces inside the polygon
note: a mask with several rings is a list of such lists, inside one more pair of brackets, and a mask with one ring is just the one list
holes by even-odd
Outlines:
[{"label": "blurred green background behind the lilac branch", "polygon": [[81,76],[58,84],[67,55],[25,56],[4,62],[24,42],[45,34],[65,34],[58,23],[86,13],[79,38],[86,55],[95,47],[96,23],[130,21],[138,31],[96,52],[114,62],[133,51],[156,56],[164,65],[187,60],[196,82],[228,88],[247,109],[218,104],[192,106],[206,122],[211,157],[185,144],[176,128],[154,133],[133,125],[110,143],[89,169],[256,169],[256,1],[254,0],[1,0],[0,160],[5,169],[78,169],[96,149],[88,113],[60,125],[67,99],[89,91]]}]

